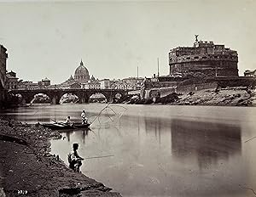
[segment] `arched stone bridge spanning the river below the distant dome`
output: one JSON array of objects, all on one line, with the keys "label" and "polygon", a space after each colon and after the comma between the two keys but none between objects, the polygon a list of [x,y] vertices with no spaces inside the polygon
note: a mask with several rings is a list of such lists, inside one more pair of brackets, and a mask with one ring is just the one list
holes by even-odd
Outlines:
[{"label": "arched stone bridge spanning the river below the distant dome", "polygon": [[44,93],[49,96],[51,104],[60,104],[60,99],[65,93],[72,93],[79,97],[79,103],[89,103],[89,98],[95,93],[102,93],[108,102],[112,102],[113,98],[119,93],[121,98],[128,94],[123,89],[20,89],[10,90],[9,93],[20,94],[23,103],[29,104],[34,96],[38,93]]}]

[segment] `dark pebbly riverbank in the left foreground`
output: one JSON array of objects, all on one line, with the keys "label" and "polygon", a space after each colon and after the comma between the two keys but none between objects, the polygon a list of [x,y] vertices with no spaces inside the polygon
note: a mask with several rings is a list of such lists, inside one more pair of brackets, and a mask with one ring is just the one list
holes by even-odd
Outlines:
[{"label": "dark pebbly riverbank in the left foreground", "polygon": [[50,138],[61,138],[61,134],[0,118],[1,197],[120,196],[50,155]]}]

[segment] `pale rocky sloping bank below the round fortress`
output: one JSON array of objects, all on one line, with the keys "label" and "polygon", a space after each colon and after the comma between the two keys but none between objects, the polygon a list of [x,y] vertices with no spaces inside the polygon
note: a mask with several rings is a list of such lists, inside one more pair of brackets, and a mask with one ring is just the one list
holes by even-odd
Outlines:
[{"label": "pale rocky sloping bank below the round fortress", "polygon": [[121,100],[123,104],[180,104],[180,105],[221,105],[221,106],[254,106],[256,105],[255,89],[247,87],[227,87],[204,89],[190,93],[166,93],[160,98],[141,99],[139,95],[128,95]]}]

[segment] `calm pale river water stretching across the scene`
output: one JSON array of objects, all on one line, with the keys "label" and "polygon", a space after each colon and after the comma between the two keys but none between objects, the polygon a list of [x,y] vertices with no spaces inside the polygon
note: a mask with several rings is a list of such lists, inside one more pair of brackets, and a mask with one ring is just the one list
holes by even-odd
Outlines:
[{"label": "calm pale river water stretching across the scene", "polygon": [[[0,115],[22,122],[92,121],[106,104],[33,105]],[[63,132],[52,153],[67,163],[73,143],[81,171],[123,196],[254,196],[256,108],[109,105],[90,130]],[[127,110],[125,110],[125,108]],[[252,140],[247,141],[248,139]]]}]

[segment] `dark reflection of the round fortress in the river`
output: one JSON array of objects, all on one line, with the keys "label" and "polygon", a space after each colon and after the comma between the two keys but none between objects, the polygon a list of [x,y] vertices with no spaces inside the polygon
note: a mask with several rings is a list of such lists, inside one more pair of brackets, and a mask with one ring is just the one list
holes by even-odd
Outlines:
[{"label": "dark reflection of the round fortress in the river", "polygon": [[174,119],[171,129],[172,155],[195,156],[200,168],[228,160],[231,155],[241,155],[241,127]]}]

